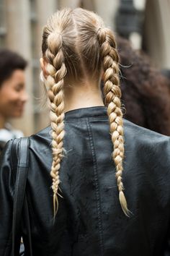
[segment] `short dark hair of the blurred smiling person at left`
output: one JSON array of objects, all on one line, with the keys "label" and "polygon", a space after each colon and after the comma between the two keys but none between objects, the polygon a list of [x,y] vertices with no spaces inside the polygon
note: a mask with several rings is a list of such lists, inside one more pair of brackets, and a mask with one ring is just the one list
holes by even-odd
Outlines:
[{"label": "short dark hair of the blurred smiling person at left", "polygon": [[0,50],[0,87],[5,80],[11,77],[12,73],[16,69],[24,70],[27,67],[27,61],[22,56],[9,51],[7,49]]}]

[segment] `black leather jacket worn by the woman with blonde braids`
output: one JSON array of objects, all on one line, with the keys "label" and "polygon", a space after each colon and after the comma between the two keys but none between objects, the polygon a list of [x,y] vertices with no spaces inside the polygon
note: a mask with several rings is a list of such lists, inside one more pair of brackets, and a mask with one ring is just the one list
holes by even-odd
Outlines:
[{"label": "black leather jacket worn by the woman with blonde braids", "polygon": [[[58,214],[53,223],[50,127],[30,137],[27,197],[34,256],[169,256],[170,139],[124,121],[123,184],[128,208],[120,208],[112,142],[104,107],[66,113],[66,156],[61,164]],[[10,145],[1,159],[0,255],[12,230],[14,185]],[[27,252],[27,229],[22,236]],[[8,255],[6,255],[8,256]]]}]

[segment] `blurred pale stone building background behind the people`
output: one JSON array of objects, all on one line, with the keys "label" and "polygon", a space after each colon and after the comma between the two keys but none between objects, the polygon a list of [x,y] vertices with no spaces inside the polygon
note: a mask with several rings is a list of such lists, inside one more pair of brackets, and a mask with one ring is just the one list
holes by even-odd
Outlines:
[{"label": "blurred pale stone building background behind the people", "polygon": [[40,85],[42,27],[50,14],[63,7],[97,12],[134,49],[145,51],[158,69],[170,69],[170,0],[0,0],[0,48],[17,51],[28,61],[30,98],[22,119],[12,120],[24,135],[50,124]]}]

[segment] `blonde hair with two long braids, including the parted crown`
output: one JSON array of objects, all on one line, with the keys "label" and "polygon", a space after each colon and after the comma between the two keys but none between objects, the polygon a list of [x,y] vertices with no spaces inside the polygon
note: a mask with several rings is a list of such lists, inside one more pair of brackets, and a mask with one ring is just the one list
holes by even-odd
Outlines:
[{"label": "blonde hair with two long braids, including the parted crown", "polygon": [[64,137],[64,80],[82,81],[94,77],[100,82],[104,71],[104,98],[109,116],[110,133],[114,150],[117,187],[122,210],[129,210],[122,184],[124,138],[122,128],[119,57],[112,31],[104,27],[102,19],[85,9],[63,9],[48,20],[42,35],[42,56],[48,62],[48,97],[53,129],[53,178],[54,213],[58,210],[59,170],[63,158]]}]

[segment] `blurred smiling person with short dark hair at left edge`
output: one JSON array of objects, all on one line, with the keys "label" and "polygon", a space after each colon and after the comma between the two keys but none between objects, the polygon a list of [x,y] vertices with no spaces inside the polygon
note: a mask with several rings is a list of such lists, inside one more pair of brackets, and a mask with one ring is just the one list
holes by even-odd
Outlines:
[{"label": "blurred smiling person with short dark hair at left edge", "polygon": [[0,50],[0,150],[21,131],[13,129],[9,119],[21,117],[27,101],[24,69],[27,61],[13,51]]}]

